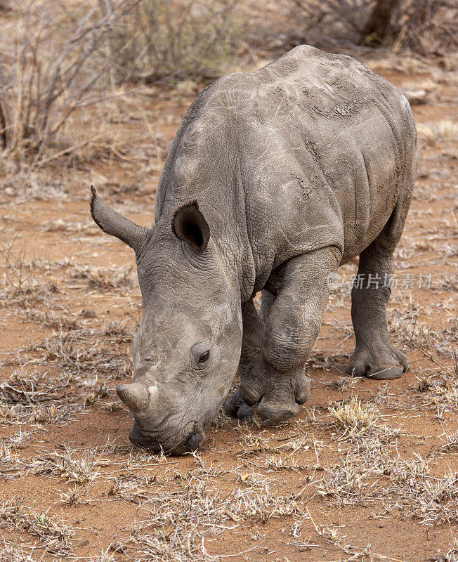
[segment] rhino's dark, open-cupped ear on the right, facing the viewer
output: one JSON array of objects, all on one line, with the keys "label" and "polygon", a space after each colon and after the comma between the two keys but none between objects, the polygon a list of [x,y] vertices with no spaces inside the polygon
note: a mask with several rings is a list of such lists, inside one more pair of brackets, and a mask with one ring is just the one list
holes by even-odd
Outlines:
[{"label": "rhino's dark, open-cupped ear on the right, facing the viewer", "polygon": [[210,228],[199,211],[197,201],[178,207],[171,222],[172,232],[180,240],[188,242],[197,251],[204,251],[210,240]]}]

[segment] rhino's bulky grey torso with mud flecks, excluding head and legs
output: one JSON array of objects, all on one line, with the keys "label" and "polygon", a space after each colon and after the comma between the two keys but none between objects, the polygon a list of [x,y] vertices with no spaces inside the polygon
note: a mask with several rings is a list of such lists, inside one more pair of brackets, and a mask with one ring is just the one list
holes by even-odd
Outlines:
[{"label": "rhino's bulky grey torso with mud flecks, excluding head and legs", "polygon": [[259,286],[318,247],[334,245],[346,261],[412,187],[416,139],[407,100],[388,81],[351,57],[299,46],[197,96],[164,166],[157,218],[167,202],[199,200],[218,235],[235,228],[250,244]]}]

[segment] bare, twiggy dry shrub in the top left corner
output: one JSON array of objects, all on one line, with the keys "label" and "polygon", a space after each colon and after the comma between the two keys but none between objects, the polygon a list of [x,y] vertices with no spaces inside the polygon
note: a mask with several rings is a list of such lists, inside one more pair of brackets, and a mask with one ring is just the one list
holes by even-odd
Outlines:
[{"label": "bare, twiggy dry shrub in the top left corner", "polygon": [[0,148],[3,157],[33,157],[76,111],[106,96],[107,37],[134,0],[55,2],[14,0],[15,18],[0,39]]}]

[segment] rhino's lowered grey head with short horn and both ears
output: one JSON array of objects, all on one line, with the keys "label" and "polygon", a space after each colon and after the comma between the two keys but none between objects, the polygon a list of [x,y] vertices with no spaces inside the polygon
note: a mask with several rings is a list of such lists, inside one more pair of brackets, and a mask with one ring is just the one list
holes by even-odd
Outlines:
[{"label": "rhino's lowered grey head with short horn and both ears", "polygon": [[96,224],[136,253],[143,315],[133,339],[133,381],[117,386],[134,419],[129,438],[155,451],[195,450],[237,371],[237,283],[197,202],[144,228],[91,190]]}]

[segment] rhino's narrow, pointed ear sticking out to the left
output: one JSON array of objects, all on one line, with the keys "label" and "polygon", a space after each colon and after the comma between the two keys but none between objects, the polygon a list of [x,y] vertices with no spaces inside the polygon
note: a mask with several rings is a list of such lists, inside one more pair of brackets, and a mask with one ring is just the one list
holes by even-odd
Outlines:
[{"label": "rhino's narrow, pointed ear sticking out to the left", "polygon": [[144,226],[138,226],[138,224],[129,221],[125,216],[113,211],[111,207],[108,207],[108,205],[98,197],[92,185],[91,192],[91,215],[96,225],[101,228],[104,233],[116,236],[136,252],[139,251],[148,238],[150,229]]}]

